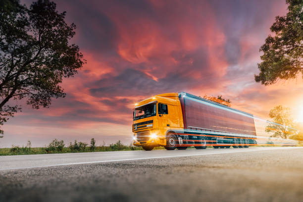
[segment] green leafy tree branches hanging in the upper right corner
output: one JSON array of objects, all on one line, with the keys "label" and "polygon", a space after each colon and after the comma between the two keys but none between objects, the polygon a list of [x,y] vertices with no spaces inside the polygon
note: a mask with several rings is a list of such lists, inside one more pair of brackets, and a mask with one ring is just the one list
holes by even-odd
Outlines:
[{"label": "green leafy tree branches hanging in the upper right corner", "polygon": [[262,62],[258,64],[256,82],[270,85],[278,79],[294,79],[303,73],[303,0],[286,0],[288,13],[276,16],[268,36],[260,48]]}]

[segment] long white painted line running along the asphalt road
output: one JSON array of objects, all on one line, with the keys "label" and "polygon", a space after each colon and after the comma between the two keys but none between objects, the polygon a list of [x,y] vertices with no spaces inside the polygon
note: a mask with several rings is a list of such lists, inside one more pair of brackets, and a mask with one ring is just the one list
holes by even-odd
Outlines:
[{"label": "long white painted line running along the asphalt road", "polygon": [[199,156],[199,155],[212,155],[212,154],[223,154],[223,153],[239,153],[239,152],[259,152],[267,150],[289,150],[289,149],[302,149],[302,147],[285,147],[285,148],[251,148],[250,150],[241,151],[228,151],[228,152],[210,152],[210,153],[197,153],[197,154],[183,154],[183,155],[170,155],[170,156],[154,156],[144,158],[126,158],[126,159],[115,159],[115,160],[100,160],[100,161],[88,161],[88,162],[75,162],[75,163],[61,163],[53,165],[39,165],[39,166],[28,166],[28,167],[16,167],[16,168],[2,168],[1,170],[18,170],[18,169],[29,169],[29,168],[42,168],[42,167],[54,167],[63,165],[79,165],[79,164],[91,164],[91,163],[105,163],[105,162],[118,162],[118,161],[130,161],[130,160],[145,160],[145,159],[156,159],[156,158],[173,158],[173,157],[186,157],[186,156]]}]

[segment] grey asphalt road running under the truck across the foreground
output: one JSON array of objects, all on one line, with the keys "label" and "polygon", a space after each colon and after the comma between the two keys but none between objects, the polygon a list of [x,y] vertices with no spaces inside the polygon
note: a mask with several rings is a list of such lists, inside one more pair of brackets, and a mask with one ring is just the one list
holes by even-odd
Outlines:
[{"label": "grey asphalt road running under the truck across the foreground", "polygon": [[302,202],[303,148],[0,156],[0,202]]}]

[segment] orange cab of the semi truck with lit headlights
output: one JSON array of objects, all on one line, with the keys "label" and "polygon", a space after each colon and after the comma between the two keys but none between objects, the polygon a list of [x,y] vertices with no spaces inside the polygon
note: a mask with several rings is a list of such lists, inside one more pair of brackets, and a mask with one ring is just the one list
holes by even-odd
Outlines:
[{"label": "orange cab of the semi truck with lit headlights", "polygon": [[166,133],[183,129],[182,109],[178,93],[166,93],[136,103],[134,110],[134,146],[145,150],[166,146]]}]

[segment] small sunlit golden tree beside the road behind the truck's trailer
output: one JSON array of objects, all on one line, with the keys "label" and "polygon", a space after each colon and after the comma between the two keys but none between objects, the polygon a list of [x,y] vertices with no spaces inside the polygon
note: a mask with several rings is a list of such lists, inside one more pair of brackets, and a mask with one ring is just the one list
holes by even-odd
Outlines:
[{"label": "small sunlit golden tree beside the road behind the truck's trailer", "polygon": [[269,117],[273,119],[272,122],[277,123],[269,123],[266,126],[265,132],[271,133],[270,137],[287,139],[294,134],[292,127],[295,123],[291,118],[289,107],[275,106],[269,111]]}]

